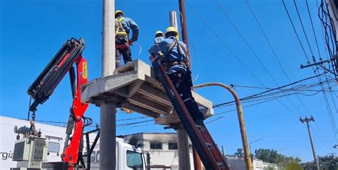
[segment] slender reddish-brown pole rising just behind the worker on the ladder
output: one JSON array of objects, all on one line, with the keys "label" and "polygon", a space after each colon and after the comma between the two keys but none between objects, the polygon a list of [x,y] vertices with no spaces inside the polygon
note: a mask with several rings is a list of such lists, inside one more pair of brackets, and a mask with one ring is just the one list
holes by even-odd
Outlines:
[{"label": "slender reddish-brown pole rising just behind the worker on the ladder", "polygon": [[[185,1],[184,0],[178,0],[178,5],[180,7],[180,25],[181,25],[181,35],[182,40],[187,46],[187,54],[189,57],[188,67],[191,70],[191,62],[190,62],[190,51],[189,51],[189,41],[188,41],[188,29],[187,29],[187,19],[185,16]],[[195,170],[202,170],[202,162],[200,161],[200,156],[198,156],[198,153],[193,146],[193,160],[194,160],[194,169]]]}]

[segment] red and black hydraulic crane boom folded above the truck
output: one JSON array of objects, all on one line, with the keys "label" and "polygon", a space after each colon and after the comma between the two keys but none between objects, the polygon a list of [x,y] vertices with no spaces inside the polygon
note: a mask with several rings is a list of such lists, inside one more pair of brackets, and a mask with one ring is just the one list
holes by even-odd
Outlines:
[{"label": "red and black hydraulic crane boom folded above the truck", "polygon": [[[83,134],[82,119],[88,107],[88,104],[81,102],[81,86],[88,82],[87,62],[82,56],[84,48],[85,42],[83,39],[76,40],[71,38],[66,41],[27,91],[29,96],[34,99],[34,103],[29,107],[29,110],[34,113],[39,104],[43,104],[48,100],[61,79],[69,71],[73,104],[66,129],[65,147],[63,154],[61,154],[64,163],[63,169],[69,170],[78,164],[78,154],[81,152],[80,145]],[[73,64],[76,64],[76,75]],[[75,77],[77,81],[75,81]]]}]

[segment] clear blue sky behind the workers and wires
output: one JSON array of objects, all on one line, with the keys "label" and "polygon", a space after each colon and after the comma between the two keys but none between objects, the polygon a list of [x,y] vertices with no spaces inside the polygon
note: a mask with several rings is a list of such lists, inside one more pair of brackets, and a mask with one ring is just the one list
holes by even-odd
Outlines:
[{"label": "clear blue sky behind the workers and wires", "polygon": [[[245,1],[219,2],[277,83],[288,84],[289,81],[269,49]],[[311,69],[299,69],[299,65],[306,64],[307,60],[302,53],[290,21],[287,19],[282,1],[249,0],[249,2],[290,80],[297,81],[314,76]],[[301,32],[292,3],[292,1],[286,1],[302,43],[305,44],[304,35]],[[309,36],[310,45],[315,51],[314,36],[306,6],[303,1],[297,2],[297,5]],[[178,2],[126,0],[116,1],[116,8],[123,10],[127,17],[132,18],[140,26],[139,39],[132,49],[133,59],[141,59],[149,63],[148,48],[153,44],[153,35],[157,30],[165,30],[168,26],[168,12],[178,11]],[[325,55],[316,1],[309,0],[309,9],[312,12],[320,52]],[[200,21],[194,11],[247,65],[250,71],[257,76],[257,79],[260,79],[267,87],[276,87],[274,81],[270,79],[260,62],[247,48],[245,42],[242,41],[230,21],[225,18],[214,0],[187,0],[188,36],[190,44],[193,44],[190,46],[190,51],[193,58],[194,84],[217,81],[224,84],[262,86],[222,45],[212,31]],[[0,115],[26,118],[29,105],[29,96],[26,94],[26,90],[66,39],[71,37],[82,36],[86,41],[83,56],[88,60],[89,79],[101,76],[101,26],[101,1],[0,0]],[[305,46],[305,50],[309,55],[307,46]],[[261,89],[240,87],[237,87],[236,90],[240,96],[262,91]],[[214,104],[232,100],[230,94],[223,89],[210,87],[197,91]],[[260,148],[276,149],[277,151],[282,150],[280,154],[299,156],[304,161],[312,160],[307,129],[298,120],[300,115],[309,116],[312,114],[316,120],[315,123],[311,123],[311,126],[317,154],[323,156],[332,152],[337,153],[337,149],[332,149],[332,146],[337,143],[335,143],[332,124],[322,93],[314,96],[299,95],[299,98],[303,101],[308,112],[299,103],[297,96],[289,97],[295,106],[290,104],[286,98],[282,98],[244,109],[249,141],[262,139],[252,144],[252,151]],[[334,99],[337,101],[337,96],[334,96]],[[338,121],[338,113],[334,109],[331,98],[329,98],[329,102],[334,119]],[[36,119],[67,121],[69,106],[71,106],[71,89],[66,76],[54,91],[53,96],[45,104],[39,106]],[[220,114],[234,109],[233,107],[215,109],[215,118],[222,116],[222,119],[208,124],[215,141],[217,144],[225,146],[227,154],[233,154],[237,148],[242,147],[235,111]],[[91,117],[94,122],[98,122],[98,107],[91,105],[86,111],[86,116]],[[139,116],[141,115],[124,114],[119,111],[117,119]],[[133,121],[138,121],[138,119]],[[117,124],[133,121],[118,121]],[[117,133],[133,134],[142,131],[172,132],[164,130],[163,126],[156,126],[150,122],[121,127],[118,128]]]}]

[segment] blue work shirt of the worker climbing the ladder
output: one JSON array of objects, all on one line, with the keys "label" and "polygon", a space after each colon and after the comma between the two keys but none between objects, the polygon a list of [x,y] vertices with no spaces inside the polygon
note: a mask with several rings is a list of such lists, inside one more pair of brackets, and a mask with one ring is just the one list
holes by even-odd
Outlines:
[{"label": "blue work shirt of the worker climbing the ladder", "polygon": [[[183,49],[180,46],[176,45],[173,47],[170,54],[168,54],[167,56],[168,49],[171,46],[171,44],[173,44],[174,39],[175,39],[174,36],[170,36],[167,39],[162,39],[161,41],[158,41],[157,43],[155,43],[155,45],[150,47],[150,49],[148,50],[149,53],[155,54],[161,51],[165,57],[165,62],[167,64],[170,64],[174,61],[185,62],[187,59],[187,54],[185,54],[185,51],[187,51],[187,46],[182,41],[178,41],[178,43],[183,46]],[[178,52],[178,48],[180,48],[180,51],[182,51],[183,56],[180,55],[180,53]],[[176,66],[171,66],[170,68],[168,68],[167,74],[172,74],[175,72],[183,72],[183,71],[187,71],[186,66],[176,65]]]}]

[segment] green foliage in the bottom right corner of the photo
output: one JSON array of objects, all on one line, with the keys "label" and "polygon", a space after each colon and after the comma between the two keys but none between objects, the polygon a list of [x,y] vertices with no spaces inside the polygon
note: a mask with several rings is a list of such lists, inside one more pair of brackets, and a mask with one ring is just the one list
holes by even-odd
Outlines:
[{"label": "green foliage in the bottom right corner of the photo", "polygon": [[[319,156],[319,169],[321,170],[338,170],[337,156]],[[302,163],[304,170],[316,169],[313,161]]]}]

